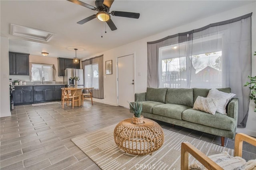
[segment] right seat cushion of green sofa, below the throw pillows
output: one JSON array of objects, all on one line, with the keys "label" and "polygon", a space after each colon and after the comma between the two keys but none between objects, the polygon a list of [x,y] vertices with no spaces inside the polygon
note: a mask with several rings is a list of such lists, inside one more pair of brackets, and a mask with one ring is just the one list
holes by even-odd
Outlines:
[{"label": "right seat cushion of green sofa, below the throw pillows", "polygon": [[208,127],[220,128],[224,130],[234,130],[236,127],[235,119],[216,112],[215,115],[206,114],[203,111],[187,109],[182,113],[182,120],[205,125]]}]

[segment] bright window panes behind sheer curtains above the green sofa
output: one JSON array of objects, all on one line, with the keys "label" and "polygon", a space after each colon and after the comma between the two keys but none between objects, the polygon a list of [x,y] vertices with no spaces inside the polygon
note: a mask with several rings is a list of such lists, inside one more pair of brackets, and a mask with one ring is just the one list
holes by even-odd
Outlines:
[{"label": "bright window panes behind sheer curtains above the green sofa", "polygon": [[[161,60],[160,87],[186,88],[188,80],[191,87],[222,87],[222,51]],[[191,67],[187,68],[187,61]]]}]

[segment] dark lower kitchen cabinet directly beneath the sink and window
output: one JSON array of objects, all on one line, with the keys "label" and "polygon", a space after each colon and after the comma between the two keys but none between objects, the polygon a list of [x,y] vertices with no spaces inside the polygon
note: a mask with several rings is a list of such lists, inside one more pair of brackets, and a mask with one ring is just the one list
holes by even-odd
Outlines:
[{"label": "dark lower kitchen cabinet directly beneath the sink and window", "polygon": [[34,86],[34,102],[55,100],[54,85]]}]

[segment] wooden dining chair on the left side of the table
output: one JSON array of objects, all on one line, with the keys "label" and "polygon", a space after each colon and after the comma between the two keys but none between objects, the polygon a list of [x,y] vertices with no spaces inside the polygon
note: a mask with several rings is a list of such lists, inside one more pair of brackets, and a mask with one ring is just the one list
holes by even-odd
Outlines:
[{"label": "wooden dining chair on the left side of the table", "polygon": [[80,97],[77,94],[77,89],[73,88],[62,88],[62,109],[64,109],[64,103],[68,106],[72,103],[72,109],[74,109],[74,102],[78,101],[80,103]]}]

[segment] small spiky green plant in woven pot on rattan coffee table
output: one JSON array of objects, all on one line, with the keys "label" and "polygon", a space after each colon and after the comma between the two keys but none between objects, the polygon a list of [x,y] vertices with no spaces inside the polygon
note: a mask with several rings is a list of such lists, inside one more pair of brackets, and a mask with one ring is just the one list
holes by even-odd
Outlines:
[{"label": "small spiky green plant in woven pot on rattan coffee table", "polygon": [[134,124],[142,124],[144,117],[141,114],[142,112],[142,103],[141,102],[134,102],[133,105],[132,103],[128,102],[130,105],[130,108],[132,109],[134,115],[132,119],[132,123]]}]

